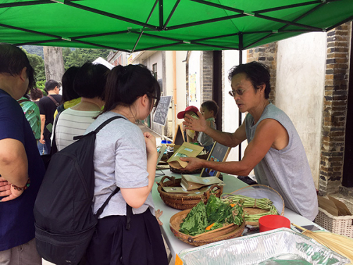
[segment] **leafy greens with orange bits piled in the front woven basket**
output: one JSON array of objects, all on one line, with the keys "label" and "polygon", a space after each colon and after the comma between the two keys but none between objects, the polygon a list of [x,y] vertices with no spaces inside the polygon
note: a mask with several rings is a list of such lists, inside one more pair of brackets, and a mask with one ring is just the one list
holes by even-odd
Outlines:
[{"label": "leafy greens with orange bits piled in the front woven basket", "polygon": [[243,222],[242,199],[234,203],[222,201],[211,195],[207,204],[199,202],[180,223],[180,233],[199,235],[231,223],[240,225]]}]

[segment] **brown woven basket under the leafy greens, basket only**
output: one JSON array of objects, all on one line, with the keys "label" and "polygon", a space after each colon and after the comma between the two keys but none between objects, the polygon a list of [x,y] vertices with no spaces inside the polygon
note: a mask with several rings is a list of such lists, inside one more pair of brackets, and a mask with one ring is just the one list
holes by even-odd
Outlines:
[{"label": "brown woven basket under the leafy greens, basket only", "polygon": [[184,233],[179,232],[180,223],[182,223],[182,219],[184,219],[190,211],[191,209],[188,209],[185,211],[180,211],[178,214],[174,214],[171,217],[171,221],[169,223],[169,226],[175,237],[187,244],[193,246],[202,246],[212,242],[237,238],[238,236],[242,235],[242,232],[244,231],[245,222],[243,222],[240,226],[236,226],[233,223],[228,226],[224,226],[223,228],[211,230],[199,235],[185,235]]}]

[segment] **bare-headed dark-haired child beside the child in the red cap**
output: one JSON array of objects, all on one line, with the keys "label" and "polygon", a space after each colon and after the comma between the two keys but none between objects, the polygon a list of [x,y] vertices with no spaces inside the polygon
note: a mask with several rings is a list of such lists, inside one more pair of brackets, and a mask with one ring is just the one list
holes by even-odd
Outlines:
[{"label": "bare-headed dark-haired child beside the child in the red cap", "polygon": [[[200,112],[206,119],[207,126],[216,130],[215,117],[218,113],[218,105],[213,100],[204,101],[201,104]],[[206,135],[204,132],[199,132],[199,136],[197,137],[197,142],[204,146],[207,152],[211,151],[213,147],[213,139]]]}]

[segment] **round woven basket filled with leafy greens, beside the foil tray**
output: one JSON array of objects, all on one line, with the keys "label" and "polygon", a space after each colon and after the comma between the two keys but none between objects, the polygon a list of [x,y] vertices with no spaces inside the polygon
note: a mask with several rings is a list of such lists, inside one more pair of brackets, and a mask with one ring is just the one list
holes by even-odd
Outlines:
[{"label": "round woven basket filled with leafy greens, beside the foil tray", "polygon": [[229,204],[211,195],[206,205],[199,202],[192,209],[173,215],[170,227],[182,242],[201,246],[242,235],[243,215],[242,202]]}]

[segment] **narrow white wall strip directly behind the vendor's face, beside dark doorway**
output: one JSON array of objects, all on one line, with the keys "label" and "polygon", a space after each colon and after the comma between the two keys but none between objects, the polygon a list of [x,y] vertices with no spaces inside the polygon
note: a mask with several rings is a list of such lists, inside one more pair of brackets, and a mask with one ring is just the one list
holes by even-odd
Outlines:
[{"label": "narrow white wall strip directly behind the vendor's face, beside dark doorway", "polygon": [[[246,63],[247,51],[243,51],[242,60]],[[233,66],[239,65],[239,51],[223,51],[223,128],[218,128],[224,132],[235,132],[239,127],[239,109],[235,104],[233,97],[230,97],[228,92],[232,90],[228,80],[228,72]],[[220,110],[221,111],[221,110]],[[242,114],[244,121],[246,113]],[[242,155],[247,147],[247,141],[242,142]],[[232,148],[228,155],[227,161],[239,161],[238,147]]]}]

